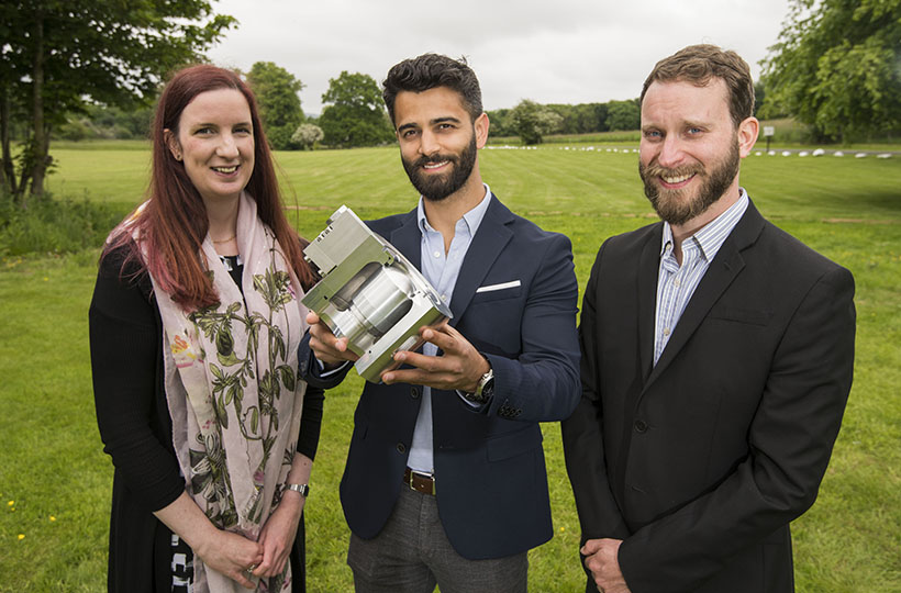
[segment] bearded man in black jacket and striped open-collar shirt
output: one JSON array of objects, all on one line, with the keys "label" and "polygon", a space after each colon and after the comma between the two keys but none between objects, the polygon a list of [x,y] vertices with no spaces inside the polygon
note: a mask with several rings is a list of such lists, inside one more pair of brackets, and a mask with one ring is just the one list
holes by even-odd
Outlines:
[{"label": "bearded man in black jacket and striped open-collar shirt", "polygon": [[745,61],[710,45],[642,91],[663,222],[608,239],[585,293],[582,399],[563,425],[587,591],[793,591],[852,383],[850,273],[738,184],[757,139]]}]

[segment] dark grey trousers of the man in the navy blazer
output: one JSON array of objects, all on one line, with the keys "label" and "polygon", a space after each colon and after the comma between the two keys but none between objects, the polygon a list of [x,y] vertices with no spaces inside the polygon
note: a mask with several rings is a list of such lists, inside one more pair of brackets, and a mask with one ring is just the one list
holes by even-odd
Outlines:
[{"label": "dark grey trousers of the man in the navy blazer", "polygon": [[356,593],[525,593],[527,552],[467,560],[454,550],[435,497],[401,488],[398,503],[372,539],[351,535],[347,564]]}]

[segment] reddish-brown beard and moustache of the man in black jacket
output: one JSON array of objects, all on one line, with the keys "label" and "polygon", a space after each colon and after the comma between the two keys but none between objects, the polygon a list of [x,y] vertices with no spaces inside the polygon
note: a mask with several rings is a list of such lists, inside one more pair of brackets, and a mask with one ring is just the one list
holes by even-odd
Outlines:
[{"label": "reddish-brown beard and moustache of the man in black jacket", "polygon": [[[728,154],[720,163],[713,164],[710,172],[705,172],[701,165],[667,169],[653,163],[644,166],[638,161],[638,175],[642,176],[645,184],[645,195],[657,211],[657,215],[670,225],[679,226],[707,212],[723,197],[732,181],[735,180],[735,176],[738,175],[739,164],[741,156],[736,137]],[[685,198],[683,190],[668,190],[659,186],[659,177],[680,177],[692,174],[704,176],[707,179],[691,199]]]}]

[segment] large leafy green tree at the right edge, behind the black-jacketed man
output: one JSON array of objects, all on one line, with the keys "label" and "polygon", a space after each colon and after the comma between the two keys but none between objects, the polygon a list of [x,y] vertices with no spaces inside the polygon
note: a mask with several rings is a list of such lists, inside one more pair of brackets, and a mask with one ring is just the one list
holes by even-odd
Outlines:
[{"label": "large leafy green tree at the right edge, behind the black-jacketed man", "polygon": [[901,127],[901,0],[792,0],[769,49],[761,115],[845,142]]}]

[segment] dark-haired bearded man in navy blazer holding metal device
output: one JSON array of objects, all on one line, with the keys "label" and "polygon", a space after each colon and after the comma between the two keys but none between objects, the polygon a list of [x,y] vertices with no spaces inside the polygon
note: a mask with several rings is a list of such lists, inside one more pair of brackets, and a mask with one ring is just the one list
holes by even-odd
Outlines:
[{"label": "dark-haired bearded man in navy blazer holding metal device", "polygon": [[[404,60],[385,100],[422,197],[368,224],[425,275],[453,320],[423,328],[423,351],[397,354],[403,366],[364,388],[341,482],[348,564],[358,592],[525,592],[526,551],[553,535],[538,423],[567,417],[579,400],[570,243],[482,183],[489,122],[465,61]],[[327,368],[355,357],[309,320],[318,361],[301,356],[301,372],[331,387]]]}]

